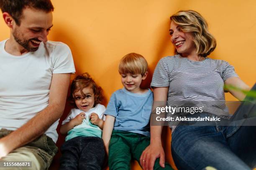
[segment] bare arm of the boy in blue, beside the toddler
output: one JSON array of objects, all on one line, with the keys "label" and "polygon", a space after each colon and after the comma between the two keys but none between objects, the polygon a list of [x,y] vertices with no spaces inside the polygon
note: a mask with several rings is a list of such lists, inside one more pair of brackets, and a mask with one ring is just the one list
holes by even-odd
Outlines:
[{"label": "bare arm of the boy in blue, beside the toddler", "polygon": [[107,115],[104,128],[103,128],[103,133],[102,133],[102,139],[103,139],[107,154],[108,154],[109,141],[114,128],[114,123],[115,123],[115,117],[111,115]]}]

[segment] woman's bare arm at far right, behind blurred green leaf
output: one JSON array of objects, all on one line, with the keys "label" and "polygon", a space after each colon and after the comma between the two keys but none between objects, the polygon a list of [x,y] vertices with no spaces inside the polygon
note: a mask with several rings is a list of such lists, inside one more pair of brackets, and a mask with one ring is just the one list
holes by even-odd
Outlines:
[{"label": "woman's bare arm at far right, behind blurred green leaf", "polygon": [[230,77],[224,81],[226,90],[230,92],[238,100],[243,100],[246,97],[244,91],[249,91],[250,87],[246,85],[239,77]]}]

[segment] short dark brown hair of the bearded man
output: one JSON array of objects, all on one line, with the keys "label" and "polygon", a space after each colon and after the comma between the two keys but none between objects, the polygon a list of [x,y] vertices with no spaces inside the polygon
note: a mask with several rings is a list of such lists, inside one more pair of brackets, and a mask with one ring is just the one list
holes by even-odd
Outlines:
[{"label": "short dark brown hair of the bearded man", "polygon": [[9,13],[17,25],[20,25],[23,9],[26,7],[43,10],[46,13],[54,10],[51,0],[0,0],[2,13]]}]

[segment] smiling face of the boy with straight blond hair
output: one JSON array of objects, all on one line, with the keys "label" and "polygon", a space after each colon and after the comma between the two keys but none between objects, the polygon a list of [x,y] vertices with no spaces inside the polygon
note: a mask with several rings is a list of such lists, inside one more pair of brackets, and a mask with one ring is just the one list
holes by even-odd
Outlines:
[{"label": "smiling face of the boy with straight blond hair", "polygon": [[148,72],[146,72],[143,76],[141,74],[131,73],[121,74],[121,82],[126,90],[133,93],[139,93],[141,92],[141,81],[146,79],[147,73]]}]

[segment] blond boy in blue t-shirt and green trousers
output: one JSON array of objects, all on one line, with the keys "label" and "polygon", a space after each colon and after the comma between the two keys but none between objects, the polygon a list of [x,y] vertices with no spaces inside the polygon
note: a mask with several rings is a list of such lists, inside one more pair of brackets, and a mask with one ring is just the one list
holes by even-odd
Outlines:
[{"label": "blond boy in blue t-shirt and green trousers", "polygon": [[[143,150],[150,144],[148,122],[153,94],[150,89],[140,87],[148,74],[147,65],[142,55],[130,53],[118,66],[124,88],[115,91],[110,98],[102,134],[110,170],[130,170],[131,158],[140,163]],[[165,168],[172,169],[168,164]],[[154,169],[162,169],[159,159]]]}]

